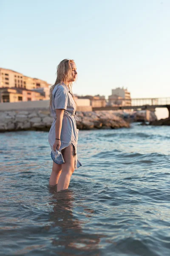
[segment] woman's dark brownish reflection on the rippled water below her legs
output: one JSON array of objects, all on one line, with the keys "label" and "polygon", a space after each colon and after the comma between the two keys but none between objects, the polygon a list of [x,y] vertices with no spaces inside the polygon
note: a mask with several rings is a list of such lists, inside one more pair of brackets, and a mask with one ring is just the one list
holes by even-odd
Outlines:
[{"label": "woman's dark brownish reflection on the rippled water below her legs", "polygon": [[[59,230],[57,238],[52,240],[52,244],[60,248],[58,255],[65,253],[69,255],[77,255],[85,251],[93,250],[95,255],[100,255],[99,242],[101,235],[93,233],[83,233],[82,225],[85,221],[80,221],[73,214],[74,192],[70,189],[56,192],[56,189],[50,188],[52,198],[50,205],[53,211],[49,213],[49,221],[52,221],[52,227]],[[88,217],[88,215],[86,215]]]}]

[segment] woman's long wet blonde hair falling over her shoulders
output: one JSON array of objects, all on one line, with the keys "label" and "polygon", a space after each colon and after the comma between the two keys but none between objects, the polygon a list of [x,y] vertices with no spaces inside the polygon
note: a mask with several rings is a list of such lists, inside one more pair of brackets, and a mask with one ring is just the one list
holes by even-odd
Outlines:
[{"label": "woman's long wet blonde hair falling over her shoulders", "polygon": [[[54,90],[54,87],[57,84],[60,84],[62,82],[65,83],[65,84],[68,84],[68,81],[71,81],[71,79],[72,79],[72,74],[71,74],[72,68],[71,68],[71,64],[70,64],[71,62],[75,63],[74,60],[64,59],[58,64],[58,66],[57,66],[57,79],[55,81],[55,84],[53,84],[50,87],[50,92],[49,92],[50,103],[49,103],[49,106],[51,106],[51,103],[52,103],[52,92]],[[73,92],[72,92],[72,82],[69,82],[68,87],[71,90],[71,93],[73,94]],[[74,99],[74,102],[76,103],[74,94],[73,94],[73,99]],[[77,103],[76,103],[76,106],[77,106]]]}]

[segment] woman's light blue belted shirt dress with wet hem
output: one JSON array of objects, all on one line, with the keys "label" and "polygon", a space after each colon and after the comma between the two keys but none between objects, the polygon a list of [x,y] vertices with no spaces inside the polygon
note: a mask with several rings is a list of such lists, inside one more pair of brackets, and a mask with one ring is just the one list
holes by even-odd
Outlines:
[{"label": "woman's light blue belted shirt dress with wet hem", "polygon": [[[54,151],[53,145],[55,142],[55,124],[57,121],[56,109],[64,109],[64,115],[62,119],[62,129],[61,129],[61,146],[59,150]],[[50,131],[48,133],[48,142],[51,147],[51,158],[55,163],[63,164],[64,158],[62,156],[62,149],[68,147],[71,143],[74,145],[74,157],[75,157],[75,169],[82,166],[77,158],[77,141],[79,129],[77,129],[76,120],[79,118],[76,116],[76,104],[73,99],[73,95],[66,84],[63,82],[56,84],[52,92],[51,115],[54,117]]]}]

